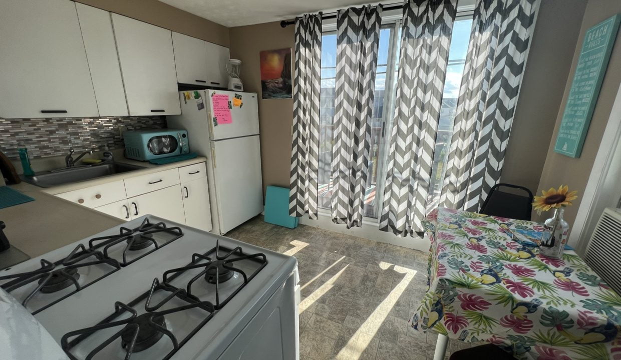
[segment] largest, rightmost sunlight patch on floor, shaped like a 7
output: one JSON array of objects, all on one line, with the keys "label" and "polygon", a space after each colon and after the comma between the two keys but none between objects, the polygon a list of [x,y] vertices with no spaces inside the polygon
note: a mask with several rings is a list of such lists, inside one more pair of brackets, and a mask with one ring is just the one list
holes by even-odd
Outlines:
[{"label": "largest, rightmost sunlight patch on floor, shaped like a 7", "polygon": [[[388,263],[382,261],[380,267],[383,268],[386,264]],[[391,264],[388,265],[392,266]],[[386,269],[388,269],[388,267],[386,267]],[[373,340],[373,336],[379,331],[379,327],[381,327],[384,320],[386,320],[390,310],[394,307],[397,300],[399,300],[399,297],[401,297],[416,274],[416,270],[399,265],[394,266],[394,271],[405,274],[405,276],[401,279],[399,284],[391,290],[390,294],[386,296],[386,299],[384,299],[381,304],[373,310],[373,313],[366,318],[365,322],[360,325],[358,330],[356,330],[354,335],[351,336],[350,340],[347,342],[347,345],[338,352],[335,359],[358,360],[360,358],[367,346],[369,346],[369,343],[371,343],[371,340]],[[366,329],[367,331],[363,332],[361,329]]]}]

